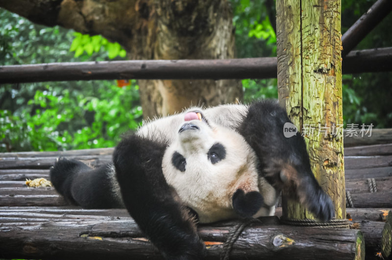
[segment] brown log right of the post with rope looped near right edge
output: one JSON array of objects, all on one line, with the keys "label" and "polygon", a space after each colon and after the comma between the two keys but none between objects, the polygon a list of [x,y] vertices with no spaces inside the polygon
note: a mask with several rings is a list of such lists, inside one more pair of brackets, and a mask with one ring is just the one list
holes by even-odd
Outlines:
[{"label": "brown log right of the post with rope looped near right edge", "polygon": [[[377,192],[391,191],[392,177],[373,178],[376,184]],[[353,193],[367,193],[370,192],[368,179],[355,179],[345,181],[346,190]]]}]

